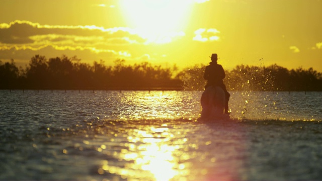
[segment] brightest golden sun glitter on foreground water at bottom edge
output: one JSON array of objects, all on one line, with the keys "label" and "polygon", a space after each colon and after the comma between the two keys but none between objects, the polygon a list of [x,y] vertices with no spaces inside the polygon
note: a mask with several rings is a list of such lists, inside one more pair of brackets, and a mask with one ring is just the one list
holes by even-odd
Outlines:
[{"label": "brightest golden sun glitter on foreground water at bottom edge", "polygon": [[126,149],[113,154],[119,161],[126,161],[124,167],[104,160],[98,173],[109,172],[128,180],[187,180],[186,177],[190,173],[188,167],[191,165],[179,161],[181,159],[179,155],[184,155],[179,151],[181,142],[186,142],[187,139],[182,139],[180,143],[171,142],[169,144],[173,135],[167,132],[168,128],[163,126],[160,128],[147,126],[129,130],[128,142],[124,144]]}]

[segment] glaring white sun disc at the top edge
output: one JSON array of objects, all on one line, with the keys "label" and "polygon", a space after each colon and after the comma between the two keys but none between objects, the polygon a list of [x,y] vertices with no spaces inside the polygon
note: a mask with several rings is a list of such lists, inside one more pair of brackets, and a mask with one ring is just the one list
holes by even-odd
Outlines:
[{"label": "glaring white sun disc at the top edge", "polygon": [[154,42],[167,42],[172,37],[184,36],[191,4],[189,0],[120,1],[128,26],[142,38]]}]

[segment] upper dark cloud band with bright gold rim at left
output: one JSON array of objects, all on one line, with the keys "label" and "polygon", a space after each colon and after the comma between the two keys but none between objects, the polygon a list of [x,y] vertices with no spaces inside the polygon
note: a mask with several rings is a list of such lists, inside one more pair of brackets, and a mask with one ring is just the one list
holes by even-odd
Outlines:
[{"label": "upper dark cloud band with bright gold rim at left", "polygon": [[76,45],[77,43],[90,43],[91,39],[102,41],[101,43],[109,39],[128,40],[122,41],[123,44],[144,43],[145,41],[127,28],[104,29],[96,26],[50,26],[27,21],[15,21],[9,26],[3,25],[0,27],[2,27],[0,28],[0,43],[7,44],[7,46],[8,44],[32,44],[37,41],[49,44],[73,42]]}]

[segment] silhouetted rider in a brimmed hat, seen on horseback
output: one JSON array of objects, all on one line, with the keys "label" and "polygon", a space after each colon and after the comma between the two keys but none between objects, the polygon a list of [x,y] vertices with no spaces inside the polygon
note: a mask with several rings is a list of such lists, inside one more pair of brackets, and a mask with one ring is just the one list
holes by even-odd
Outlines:
[{"label": "silhouetted rider in a brimmed hat, seen on horseback", "polygon": [[205,74],[203,76],[206,80],[208,80],[205,88],[209,86],[219,86],[223,89],[223,91],[225,92],[224,113],[229,114],[228,101],[229,101],[230,94],[227,92],[226,85],[223,83],[223,78],[225,78],[226,75],[222,66],[217,64],[217,60],[218,60],[217,54],[213,53],[211,55],[211,62],[209,63],[210,65],[206,66]]}]

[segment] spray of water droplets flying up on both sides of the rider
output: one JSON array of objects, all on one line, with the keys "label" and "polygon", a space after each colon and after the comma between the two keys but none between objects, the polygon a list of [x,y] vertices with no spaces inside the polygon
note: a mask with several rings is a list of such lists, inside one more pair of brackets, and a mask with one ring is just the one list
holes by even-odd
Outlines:
[{"label": "spray of water droplets flying up on both sides of the rider", "polygon": [[[262,61],[263,59],[258,61],[258,66],[242,64],[226,71],[224,83],[231,94],[229,101],[230,118],[239,120],[292,120],[291,114],[295,114],[294,118],[298,117],[296,113],[292,113],[289,107],[289,104],[294,102],[294,98],[289,96],[289,92],[281,92],[283,91],[281,85],[288,82],[280,82],[281,80],[275,77],[276,73],[284,69],[277,65],[265,67]],[[196,65],[179,75],[183,80],[185,91],[204,90],[206,83],[203,78],[204,69],[205,65]],[[290,103],[286,104],[285,100],[289,100]],[[308,119],[306,116],[300,119],[312,120],[313,118]]]}]

